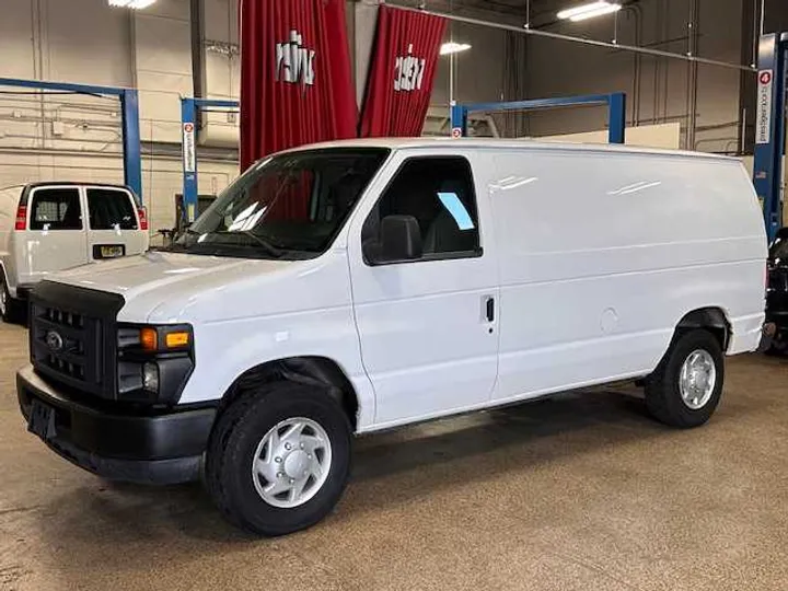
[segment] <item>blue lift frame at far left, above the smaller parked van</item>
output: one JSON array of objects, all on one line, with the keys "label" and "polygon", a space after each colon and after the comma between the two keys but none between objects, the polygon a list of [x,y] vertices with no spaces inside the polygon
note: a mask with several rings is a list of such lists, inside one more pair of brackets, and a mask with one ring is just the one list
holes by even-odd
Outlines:
[{"label": "blue lift frame at far left, above the smaller parked van", "polygon": [[33,89],[60,93],[88,94],[93,96],[117,96],[120,100],[123,129],[124,183],[142,200],[142,153],[139,126],[139,95],[134,89],[119,86],[96,86],[70,82],[47,82],[0,78],[0,86]]}]

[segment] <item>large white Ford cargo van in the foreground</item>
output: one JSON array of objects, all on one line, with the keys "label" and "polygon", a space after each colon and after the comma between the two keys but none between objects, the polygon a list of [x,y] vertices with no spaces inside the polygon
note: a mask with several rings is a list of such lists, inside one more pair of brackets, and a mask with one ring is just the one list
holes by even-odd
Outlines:
[{"label": "large white Ford cargo van in the foreground", "polygon": [[32,293],[28,428],[96,474],[205,480],[263,534],[336,503],[355,433],[644,379],[706,422],[758,346],[742,165],[495,140],[357,140],[253,165],[154,252]]}]

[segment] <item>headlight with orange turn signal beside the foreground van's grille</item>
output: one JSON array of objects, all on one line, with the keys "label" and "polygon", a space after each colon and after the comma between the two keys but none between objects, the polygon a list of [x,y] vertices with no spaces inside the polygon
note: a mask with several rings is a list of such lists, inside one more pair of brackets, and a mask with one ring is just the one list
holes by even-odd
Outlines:
[{"label": "headlight with orange turn signal beside the foreground van's grille", "polygon": [[174,404],[194,370],[188,324],[118,326],[118,398]]}]

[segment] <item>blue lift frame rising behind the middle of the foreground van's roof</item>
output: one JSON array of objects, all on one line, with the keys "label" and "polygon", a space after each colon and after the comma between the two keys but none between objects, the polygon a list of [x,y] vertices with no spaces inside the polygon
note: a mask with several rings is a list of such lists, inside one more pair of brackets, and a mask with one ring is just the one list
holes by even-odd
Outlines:
[{"label": "blue lift frame rising behind the middle of the foreground van's roof", "polygon": [[561,96],[557,99],[536,99],[533,101],[514,101],[511,103],[479,103],[475,105],[457,105],[451,107],[452,136],[467,136],[467,116],[473,112],[533,111],[536,108],[556,108],[570,106],[607,105],[609,141],[624,143],[626,138],[626,94],[590,94],[586,96]]}]

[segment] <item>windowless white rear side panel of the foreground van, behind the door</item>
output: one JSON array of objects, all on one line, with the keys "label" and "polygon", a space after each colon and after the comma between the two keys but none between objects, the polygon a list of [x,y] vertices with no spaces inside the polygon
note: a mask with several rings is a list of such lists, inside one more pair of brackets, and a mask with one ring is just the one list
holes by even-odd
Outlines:
[{"label": "windowless white rear side panel of the foreground van, behind the door", "polygon": [[498,399],[650,373],[692,310],[757,346],[766,237],[733,160],[545,149],[496,159]]}]

